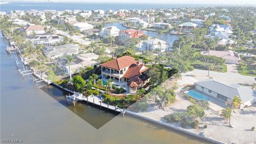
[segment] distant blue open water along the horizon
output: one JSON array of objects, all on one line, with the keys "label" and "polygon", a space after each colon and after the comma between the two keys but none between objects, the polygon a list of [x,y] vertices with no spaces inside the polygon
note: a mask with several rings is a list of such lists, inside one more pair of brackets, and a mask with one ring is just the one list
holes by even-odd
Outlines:
[{"label": "distant blue open water along the horizon", "polygon": [[[120,1],[122,2],[122,1]],[[163,3],[52,3],[52,2],[12,2],[0,5],[1,11],[12,10],[142,10],[180,7],[213,7],[218,4],[163,4]]]}]

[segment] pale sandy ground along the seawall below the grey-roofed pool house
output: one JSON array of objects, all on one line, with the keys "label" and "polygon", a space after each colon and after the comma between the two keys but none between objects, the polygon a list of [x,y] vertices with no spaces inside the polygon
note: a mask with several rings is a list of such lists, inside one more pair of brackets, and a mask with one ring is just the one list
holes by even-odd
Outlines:
[{"label": "pale sandy ground along the seawall below the grey-roofed pool house", "polygon": [[[177,101],[166,107],[165,111],[157,109],[154,101],[149,100],[148,102],[149,108],[146,112],[141,112],[140,114],[162,122],[166,122],[163,118],[165,115],[169,115],[174,111],[186,111],[187,106],[191,105],[191,102],[181,95],[177,95]],[[205,132],[206,137],[214,138],[225,143],[256,143],[256,132],[251,131],[252,126],[256,127],[256,104],[244,108],[243,110],[236,110],[236,113],[232,113],[231,125],[233,125],[233,128],[229,127],[229,123],[226,119],[223,119],[212,110],[205,110],[205,117],[198,119],[198,121],[199,126],[203,127],[206,124],[207,128],[186,130],[195,133]],[[180,126],[179,123],[173,124]]]}]

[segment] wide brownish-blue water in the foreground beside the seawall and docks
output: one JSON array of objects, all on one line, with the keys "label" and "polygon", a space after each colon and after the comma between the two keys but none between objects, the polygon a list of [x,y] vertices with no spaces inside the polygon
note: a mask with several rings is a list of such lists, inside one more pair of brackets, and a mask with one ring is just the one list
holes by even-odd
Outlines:
[{"label": "wide brownish-blue water in the foreground beside the seawall and docks", "polygon": [[77,103],[66,106],[67,93],[34,87],[21,77],[16,55],[5,52],[1,38],[1,139],[23,143],[206,143],[132,116],[107,113]]}]

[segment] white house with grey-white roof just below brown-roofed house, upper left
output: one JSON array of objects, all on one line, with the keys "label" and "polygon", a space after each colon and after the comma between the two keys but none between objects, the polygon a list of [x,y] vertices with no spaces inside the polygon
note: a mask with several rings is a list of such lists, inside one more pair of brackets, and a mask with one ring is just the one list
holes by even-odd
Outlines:
[{"label": "white house with grey-white roof just below brown-roofed house, upper left", "polygon": [[63,41],[63,37],[54,35],[51,33],[45,33],[45,34],[41,34],[41,35],[36,35],[36,37],[31,38],[30,41],[35,46],[37,46],[39,44],[49,46],[49,45],[54,45],[55,43],[61,43]]}]

